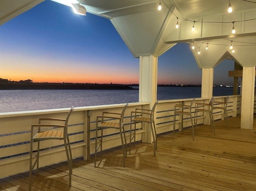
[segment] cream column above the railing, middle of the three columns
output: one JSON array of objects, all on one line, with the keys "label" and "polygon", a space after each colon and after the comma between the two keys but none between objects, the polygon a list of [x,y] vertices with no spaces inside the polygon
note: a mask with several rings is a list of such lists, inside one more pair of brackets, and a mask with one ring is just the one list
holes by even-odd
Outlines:
[{"label": "cream column above the railing, middle of the three columns", "polygon": [[201,97],[211,98],[213,88],[213,68],[202,68]]}]

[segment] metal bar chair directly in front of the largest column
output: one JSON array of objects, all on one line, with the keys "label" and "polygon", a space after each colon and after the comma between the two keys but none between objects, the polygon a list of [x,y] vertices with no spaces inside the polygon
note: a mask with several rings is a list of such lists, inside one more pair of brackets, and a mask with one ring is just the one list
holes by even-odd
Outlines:
[{"label": "metal bar chair directly in front of the largest column", "polygon": [[[157,150],[157,136],[156,136],[156,124],[154,121],[154,111],[156,108],[156,104],[158,101],[156,101],[152,107],[151,110],[149,109],[140,109],[136,108],[135,111],[131,112],[131,123],[130,123],[130,150],[129,154],[131,154],[131,144],[132,140],[134,140],[134,147],[135,147],[135,140],[136,140],[136,124],[138,122],[140,123],[148,123],[150,124],[151,131],[152,131],[152,136],[153,136],[153,141],[154,141],[154,156],[156,156],[156,150]],[[148,117],[143,117],[143,116],[148,116]],[[132,118],[134,116],[134,118]],[[132,136],[132,123],[134,122],[134,135]],[[152,125],[153,124],[153,125]],[[154,126],[154,128],[153,128]]]}]

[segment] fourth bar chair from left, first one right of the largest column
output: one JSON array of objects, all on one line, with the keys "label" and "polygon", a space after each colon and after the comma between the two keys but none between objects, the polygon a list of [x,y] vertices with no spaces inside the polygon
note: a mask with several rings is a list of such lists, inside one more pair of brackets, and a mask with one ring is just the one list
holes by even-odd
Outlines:
[{"label": "fourth bar chair from left, first one right of the largest column", "polygon": [[[173,120],[173,136],[175,135],[175,124],[176,124],[176,115],[181,115],[182,116],[182,122],[181,122],[181,129],[183,130],[183,115],[188,115],[190,116],[191,120],[191,126],[192,126],[192,137],[194,141],[194,124],[192,120],[192,106],[195,102],[195,98],[192,100],[190,106],[189,105],[184,105],[184,104],[176,104],[174,106],[174,120]],[[189,110],[189,111],[187,111]]]}]

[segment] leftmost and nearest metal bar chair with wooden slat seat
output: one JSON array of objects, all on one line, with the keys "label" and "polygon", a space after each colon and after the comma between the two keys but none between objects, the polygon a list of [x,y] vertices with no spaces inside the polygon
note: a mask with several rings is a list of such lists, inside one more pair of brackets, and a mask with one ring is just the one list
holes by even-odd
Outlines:
[{"label": "leftmost and nearest metal bar chair with wooden slat seat", "polygon": [[[64,140],[64,146],[66,150],[66,156],[68,160],[69,167],[69,186],[71,186],[71,175],[72,175],[72,152],[70,147],[70,141],[68,138],[68,119],[71,112],[74,110],[74,106],[70,108],[66,119],[59,118],[40,118],[39,124],[34,124],[31,126],[31,137],[30,137],[30,168],[29,168],[29,190],[31,191],[32,184],[32,171],[36,165],[37,170],[39,168],[39,153],[40,153],[40,141],[42,140]],[[55,122],[64,122],[64,125],[61,124],[41,124],[42,121],[55,121]],[[35,135],[34,128],[37,128],[38,131]],[[41,129],[46,128],[46,129]],[[52,128],[63,128],[63,131],[52,130]],[[34,163],[32,162],[32,153],[33,153],[33,142],[38,142],[37,146],[37,155]]]}]

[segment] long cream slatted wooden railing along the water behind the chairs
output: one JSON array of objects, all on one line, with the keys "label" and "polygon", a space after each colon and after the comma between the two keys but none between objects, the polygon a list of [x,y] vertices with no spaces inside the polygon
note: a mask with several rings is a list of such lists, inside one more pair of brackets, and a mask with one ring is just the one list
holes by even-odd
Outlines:
[{"label": "long cream slatted wooden railing along the water behind the chairs", "polygon": [[[216,101],[224,101],[225,96],[216,97]],[[175,104],[190,104],[192,99],[160,100],[156,106],[157,133],[172,131],[173,112]],[[231,96],[228,103],[228,115],[236,116],[240,113],[241,96]],[[209,102],[209,99],[197,98],[196,102]],[[68,133],[72,143],[73,158],[84,156],[90,159],[94,153],[96,116],[103,111],[121,112],[124,104],[103,106],[75,107],[69,120]],[[124,127],[126,138],[130,136],[130,113],[135,108],[149,108],[148,102],[129,103],[124,114]],[[38,110],[28,112],[10,112],[0,114],[0,178],[8,175],[28,171],[30,152],[30,129],[32,124],[37,124],[39,118],[66,118],[70,108]],[[194,108],[193,108],[194,110]],[[194,114],[193,114],[194,116]],[[223,112],[214,111],[214,119],[222,119]],[[177,128],[180,127],[181,119],[176,118]],[[207,116],[200,116],[198,124],[207,123]],[[183,119],[184,128],[191,126],[188,118]],[[134,127],[134,124],[132,124]],[[145,126],[137,125],[136,141],[151,140],[146,138],[150,131]],[[118,130],[104,130],[103,149],[121,145]],[[34,143],[34,150],[37,150]],[[40,166],[50,165],[66,160],[66,153],[62,141],[47,140],[40,144]],[[50,147],[50,148],[49,148]]]}]

